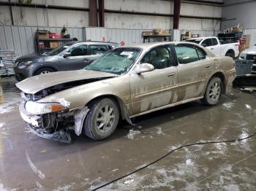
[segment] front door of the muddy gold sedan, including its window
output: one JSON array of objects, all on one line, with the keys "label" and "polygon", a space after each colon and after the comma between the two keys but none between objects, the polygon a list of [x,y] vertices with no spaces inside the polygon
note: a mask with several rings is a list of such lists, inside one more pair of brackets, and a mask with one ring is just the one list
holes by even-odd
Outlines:
[{"label": "front door of the muddy gold sedan, including its window", "polygon": [[177,68],[169,45],[149,50],[140,63],[151,63],[155,69],[131,74],[133,116],[171,104],[178,97]]}]

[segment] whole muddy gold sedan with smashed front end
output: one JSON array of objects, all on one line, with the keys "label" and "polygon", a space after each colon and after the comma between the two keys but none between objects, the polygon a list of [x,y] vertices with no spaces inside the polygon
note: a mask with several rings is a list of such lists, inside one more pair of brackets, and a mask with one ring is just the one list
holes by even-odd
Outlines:
[{"label": "whole muddy gold sedan with smashed front end", "polygon": [[158,42],[118,47],[85,69],[18,82],[20,115],[38,136],[70,142],[70,130],[110,136],[119,120],[189,101],[217,104],[235,78],[232,58],[198,44]]}]

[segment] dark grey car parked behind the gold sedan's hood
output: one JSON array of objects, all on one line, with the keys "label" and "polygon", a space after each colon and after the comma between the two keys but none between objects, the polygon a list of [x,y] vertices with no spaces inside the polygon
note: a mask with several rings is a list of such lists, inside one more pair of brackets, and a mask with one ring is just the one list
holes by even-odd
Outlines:
[{"label": "dark grey car parked behind the gold sedan's hood", "polygon": [[83,69],[108,50],[118,47],[110,42],[69,42],[44,54],[24,55],[15,62],[18,81],[53,71]]}]

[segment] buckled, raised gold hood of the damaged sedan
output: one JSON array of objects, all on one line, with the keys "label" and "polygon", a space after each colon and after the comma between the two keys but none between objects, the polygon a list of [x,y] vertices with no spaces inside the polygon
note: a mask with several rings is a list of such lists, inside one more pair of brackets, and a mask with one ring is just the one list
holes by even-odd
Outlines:
[{"label": "buckled, raised gold hood of the damaged sedan", "polygon": [[57,71],[49,74],[42,74],[34,77],[29,77],[21,82],[16,83],[16,86],[24,93],[34,94],[39,92],[40,90],[44,90],[45,88],[63,84],[65,82],[74,82],[81,79],[94,79],[117,76],[117,74],[110,74],[102,71]]}]

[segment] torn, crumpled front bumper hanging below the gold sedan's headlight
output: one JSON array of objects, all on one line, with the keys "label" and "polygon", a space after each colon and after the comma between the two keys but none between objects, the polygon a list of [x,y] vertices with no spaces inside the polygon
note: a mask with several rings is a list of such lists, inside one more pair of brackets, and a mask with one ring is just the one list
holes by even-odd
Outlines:
[{"label": "torn, crumpled front bumper hanging below the gold sedan's headlight", "polygon": [[26,112],[25,103],[19,106],[19,110],[20,110],[20,116],[28,124],[32,133],[45,139],[61,141],[64,143],[72,142],[68,129],[61,128],[59,130],[54,131],[53,133],[48,133],[46,128],[43,127],[42,117]]}]

